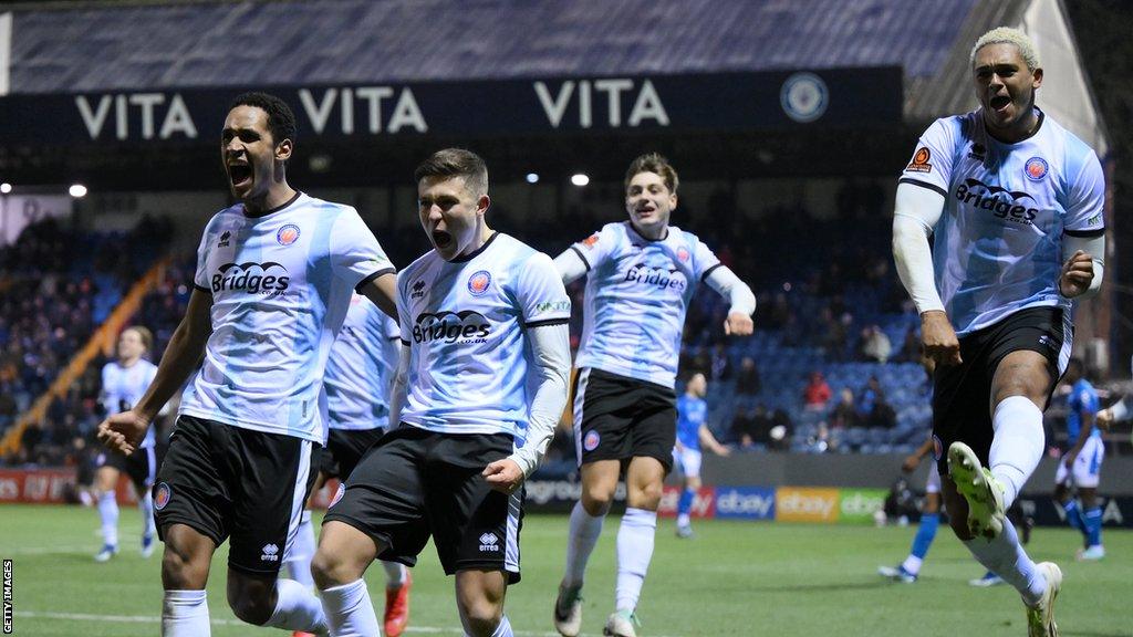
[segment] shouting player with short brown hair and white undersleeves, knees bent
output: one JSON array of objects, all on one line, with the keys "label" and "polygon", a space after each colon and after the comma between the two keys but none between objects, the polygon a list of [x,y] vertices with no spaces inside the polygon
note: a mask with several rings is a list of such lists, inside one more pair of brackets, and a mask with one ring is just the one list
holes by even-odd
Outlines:
[{"label": "shouting player with short brown hair and white undersleeves, knees bent", "polygon": [[312,572],[335,637],[373,637],[363,575],[429,537],[472,637],[510,637],[523,482],[566,406],[570,298],[551,257],[492,230],[478,155],[437,151],[417,179],[433,249],[398,277],[391,422],[323,520]]}]

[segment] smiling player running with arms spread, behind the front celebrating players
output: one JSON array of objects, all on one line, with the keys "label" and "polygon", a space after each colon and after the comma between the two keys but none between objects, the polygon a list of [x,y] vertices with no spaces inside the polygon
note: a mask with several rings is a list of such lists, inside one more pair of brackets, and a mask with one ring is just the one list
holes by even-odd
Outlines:
[{"label": "smiling player running with arms spread, behind the front celebrating players", "polygon": [[614,612],[604,632],[637,635],[662,484],[673,464],[681,332],[697,286],[708,283],[731,301],[725,334],[752,331],[751,289],[696,235],[668,223],[678,184],[665,158],[634,159],[625,172],[629,219],[607,223],[555,258],[564,282],[587,277],[573,388],[582,498],[571,511],[554,606],[555,629],[566,637],[581,630],[586,564],[623,472],[627,509],[617,530]]}]

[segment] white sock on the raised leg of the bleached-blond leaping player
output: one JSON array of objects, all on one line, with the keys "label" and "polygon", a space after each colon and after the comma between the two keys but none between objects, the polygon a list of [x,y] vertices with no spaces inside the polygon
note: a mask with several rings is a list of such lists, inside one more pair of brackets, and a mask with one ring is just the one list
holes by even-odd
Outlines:
[{"label": "white sock on the raised leg of the bleached-blond leaping player", "polygon": [[995,438],[988,464],[991,475],[1003,485],[1003,508],[1006,510],[1042,458],[1046,445],[1042,410],[1029,398],[1011,396],[996,406],[991,426]]}]

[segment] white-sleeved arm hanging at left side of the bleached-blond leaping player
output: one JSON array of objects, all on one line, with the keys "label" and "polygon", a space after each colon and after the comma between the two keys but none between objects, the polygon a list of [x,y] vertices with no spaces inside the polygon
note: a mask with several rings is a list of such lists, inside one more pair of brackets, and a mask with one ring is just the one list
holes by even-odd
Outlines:
[{"label": "white-sleeved arm hanging at left side of the bleached-blond leaping player", "polygon": [[893,212],[893,261],[905,290],[921,317],[925,355],[938,364],[961,362],[960,341],[936,289],[932,250],[928,239],[944,212],[944,195],[931,188],[903,181],[897,185]]}]

